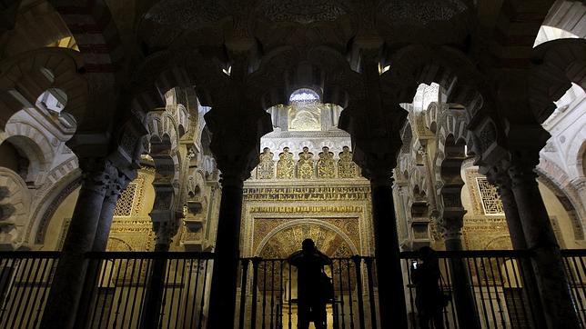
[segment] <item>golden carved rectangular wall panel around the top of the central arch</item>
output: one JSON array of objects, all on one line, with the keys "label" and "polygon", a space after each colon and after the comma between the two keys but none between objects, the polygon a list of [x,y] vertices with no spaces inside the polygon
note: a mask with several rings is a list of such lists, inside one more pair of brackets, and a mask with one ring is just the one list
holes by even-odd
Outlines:
[{"label": "golden carved rectangular wall panel around the top of the central arch", "polygon": [[286,258],[305,238],[314,239],[332,256],[371,254],[368,181],[333,186],[300,180],[260,184],[245,183],[244,255]]}]

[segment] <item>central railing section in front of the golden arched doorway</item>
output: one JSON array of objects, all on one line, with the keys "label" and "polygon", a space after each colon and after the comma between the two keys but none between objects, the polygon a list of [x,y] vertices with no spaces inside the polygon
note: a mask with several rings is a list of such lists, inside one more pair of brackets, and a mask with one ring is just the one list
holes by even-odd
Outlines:
[{"label": "central railing section in front of the golden arched doorway", "polygon": [[[377,328],[376,275],[372,257],[333,258],[324,266],[333,296],[328,327]],[[235,328],[297,328],[297,269],[285,259],[241,260]]]}]

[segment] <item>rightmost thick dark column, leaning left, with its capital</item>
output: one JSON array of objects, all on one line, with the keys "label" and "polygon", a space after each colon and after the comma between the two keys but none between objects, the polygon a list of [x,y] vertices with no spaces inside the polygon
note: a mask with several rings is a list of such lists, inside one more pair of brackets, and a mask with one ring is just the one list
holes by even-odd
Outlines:
[{"label": "rightmost thick dark column, leaning left, with its capital", "polygon": [[578,328],[560,246],[541,198],[537,174],[533,171],[538,161],[537,156],[513,156],[508,169],[511,191],[515,196],[527,248],[532,253],[533,270],[548,327]]}]

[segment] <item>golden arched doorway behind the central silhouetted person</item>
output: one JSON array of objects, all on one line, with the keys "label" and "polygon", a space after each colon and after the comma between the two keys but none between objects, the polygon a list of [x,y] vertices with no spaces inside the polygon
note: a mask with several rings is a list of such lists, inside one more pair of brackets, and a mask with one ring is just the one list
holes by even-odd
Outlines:
[{"label": "golden arched doorway behind the central silhouetted person", "polygon": [[[358,254],[349,236],[336,226],[318,219],[293,220],[279,225],[267,234],[258,247],[258,321],[260,324],[279,324],[279,327],[296,327],[298,321],[298,274],[288,264],[288,256],[301,249],[305,239],[312,239],[318,250],[333,262],[324,267],[332,279],[334,300],[327,305],[328,328],[340,323],[349,324],[349,312],[356,294],[357,279],[353,262]],[[264,326],[264,325],[263,325]],[[270,325],[272,327],[272,325]]]}]

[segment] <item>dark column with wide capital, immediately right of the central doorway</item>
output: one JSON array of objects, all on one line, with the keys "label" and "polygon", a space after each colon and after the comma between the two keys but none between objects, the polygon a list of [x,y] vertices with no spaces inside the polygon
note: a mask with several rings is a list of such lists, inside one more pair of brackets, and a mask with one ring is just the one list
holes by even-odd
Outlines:
[{"label": "dark column with wide capital, immediately right of the central doorway", "polygon": [[381,327],[407,328],[391,177],[401,146],[399,126],[404,110],[399,106],[379,110],[369,114],[366,108],[350,104],[340,116],[339,127],[351,135],[353,160],[370,180]]}]

